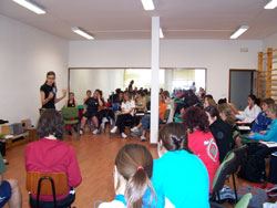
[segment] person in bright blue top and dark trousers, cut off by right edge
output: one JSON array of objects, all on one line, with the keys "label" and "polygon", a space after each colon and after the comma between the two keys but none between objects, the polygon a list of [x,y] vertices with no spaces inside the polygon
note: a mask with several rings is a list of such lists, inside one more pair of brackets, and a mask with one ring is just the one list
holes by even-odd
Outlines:
[{"label": "person in bright blue top and dark trousers, cut off by right edge", "polygon": [[[250,134],[250,136],[253,139],[277,143],[277,104],[268,105],[266,115],[270,117],[273,121],[270,129],[266,131],[264,134],[255,133]],[[258,168],[261,170],[260,181],[264,181],[266,179],[265,157],[267,157],[268,155],[270,155],[276,150],[277,147],[269,148],[267,146],[261,146],[261,145],[258,145],[255,149],[252,149],[252,152],[255,152]]]}]

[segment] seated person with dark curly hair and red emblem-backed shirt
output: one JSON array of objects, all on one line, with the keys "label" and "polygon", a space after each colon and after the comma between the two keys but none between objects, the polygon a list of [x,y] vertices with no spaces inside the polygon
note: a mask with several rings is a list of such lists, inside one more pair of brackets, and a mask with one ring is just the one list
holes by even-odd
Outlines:
[{"label": "seated person with dark curly hair and red emblem-backed shirt", "polygon": [[199,107],[188,107],[183,118],[188,128],[188,148],[197,155],[207,168],[209,176],[209,193],[219,167],[219,153],[213,134],[208,129],[208,117]]}]

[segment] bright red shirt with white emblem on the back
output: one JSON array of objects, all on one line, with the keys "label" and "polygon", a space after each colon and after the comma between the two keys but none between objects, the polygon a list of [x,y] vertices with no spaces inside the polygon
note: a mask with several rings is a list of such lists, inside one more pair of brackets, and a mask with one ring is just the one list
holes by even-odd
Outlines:
[{"label": "bright red shirt with white emblem on the back", "polygon": [[213,180],[219,167],[219,153],[213,134],[201,131],[188,134],[188,147],[205,164],[209,177],[209,193],[212,193]]}]

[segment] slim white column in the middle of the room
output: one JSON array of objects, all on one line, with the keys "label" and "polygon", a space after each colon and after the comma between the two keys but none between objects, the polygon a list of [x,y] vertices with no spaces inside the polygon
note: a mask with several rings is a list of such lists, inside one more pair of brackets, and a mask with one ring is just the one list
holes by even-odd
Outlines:
[{"label": "slim white column in the middle of the room", "polygon": [[151,58],[151,136],[150,143],[157,143],[158,133],[158,70],[160,70],[160,17],[152,17]]}]

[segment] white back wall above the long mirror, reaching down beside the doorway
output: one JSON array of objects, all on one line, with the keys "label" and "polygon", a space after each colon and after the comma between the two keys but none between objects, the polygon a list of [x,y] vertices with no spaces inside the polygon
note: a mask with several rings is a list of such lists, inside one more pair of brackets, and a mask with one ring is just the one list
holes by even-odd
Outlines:
[{"label": "white back wall above the long mirror, reaching down beside the doorway", "polygon": [[[206,67],[207,92],[218,100],[228,96],[229,69],[257,69],[261,50],[259,40],[162,40],[161,67]],[[70,41],[69,66],[151,67],[151,41]]]}]

